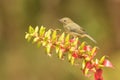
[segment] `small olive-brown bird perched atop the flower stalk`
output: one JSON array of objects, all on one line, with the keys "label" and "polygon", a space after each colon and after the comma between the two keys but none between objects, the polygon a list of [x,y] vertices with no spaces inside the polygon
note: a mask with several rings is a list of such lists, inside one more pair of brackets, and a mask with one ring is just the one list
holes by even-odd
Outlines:
[{"label": "small olive-brown bird perched atop the flower stalk", "polygon": [[72,21],[68,17],[64,17],[59,20],[65,29],[67,33],[70,35],[73,35],[74,37],[87,37],[90,40],[92,40],[94,43],[97,43],[91,36],[89,36],[85,30],[80,27],[78,24],[76,24],[74,21]]}]

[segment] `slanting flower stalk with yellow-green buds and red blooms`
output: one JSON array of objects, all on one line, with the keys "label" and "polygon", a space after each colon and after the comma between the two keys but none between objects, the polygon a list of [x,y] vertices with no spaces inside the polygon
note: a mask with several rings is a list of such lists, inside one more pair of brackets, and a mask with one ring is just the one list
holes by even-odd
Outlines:
[{"label": "slanting flower stalk with yellow-green buds and red blooms", "polygon": [[[71,38],[69,34],[58,34],[58,30],[49,29],[37,26],[35,29],[29,26],[26,32],[25,39],[32,40],[38,46],[44,46],[48,56],[52,56],[52,49],[55,49],[58,58],[64,60],[65,56],[72,65],[81,65],[81,70],[85,76],[89,76],[90,72],[94,73],[94,80],[103,80],[102,68],[112,68],[112,63],[106,59],[106,56],[101,59],[95,59],[98,52],[98,47],[91,47],[85,41],[80,42],[79,38]],[[81,62],[82,61],[82,62]]]}]

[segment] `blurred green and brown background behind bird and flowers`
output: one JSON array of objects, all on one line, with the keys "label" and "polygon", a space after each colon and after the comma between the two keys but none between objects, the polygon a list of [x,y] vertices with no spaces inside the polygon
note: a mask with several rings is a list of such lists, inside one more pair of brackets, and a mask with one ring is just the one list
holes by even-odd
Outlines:
[{"label": "blurred green and brown background behind bird and flowers", "polygon": [[120,80],[120,0],[0,0],[0,80],[92,80],[24,39],[29,25],[63,30],[65,16],[97,40],[98,58],[109,56],[105,80]]}]

